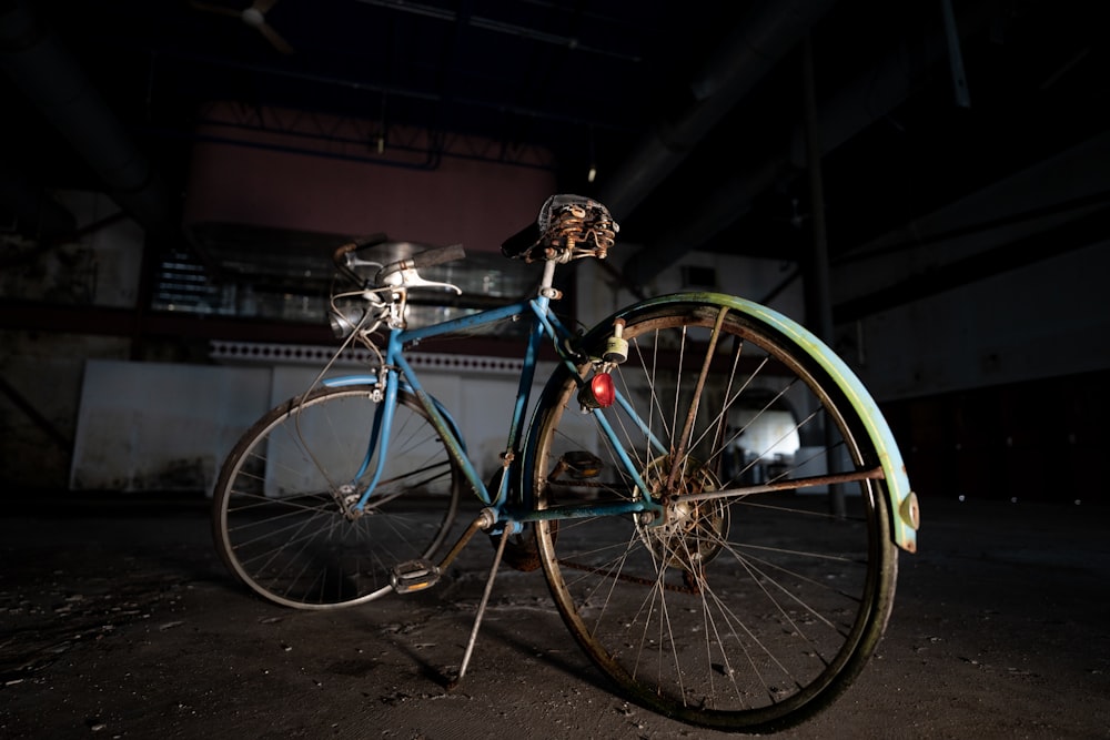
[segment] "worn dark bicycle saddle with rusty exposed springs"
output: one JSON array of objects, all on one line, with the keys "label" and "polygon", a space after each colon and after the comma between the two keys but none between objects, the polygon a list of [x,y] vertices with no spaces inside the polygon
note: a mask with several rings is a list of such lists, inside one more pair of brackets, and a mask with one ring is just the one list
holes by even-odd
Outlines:
[{"label": "worn dark bicycle saddle with rusty exposed springs", "polygon": [[619,230],[608,209],[597,201],[584,195],[552,195],[533,223],[502,243],[501,253],[525,262],[565,262],[587,255],[604,259]]}]

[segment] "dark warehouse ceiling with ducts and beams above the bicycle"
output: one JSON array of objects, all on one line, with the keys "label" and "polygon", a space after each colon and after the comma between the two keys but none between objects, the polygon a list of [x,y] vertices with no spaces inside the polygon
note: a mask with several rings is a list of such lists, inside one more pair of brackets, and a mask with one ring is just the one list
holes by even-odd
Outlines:
[{"label": "dark warehouse ceiling with ducts and beams above the bicycle", "polygon": [[[42,212],[34,194],[93,189],[141,213],[155,179],[184,187],[205,105],[234,100],[480,134],[509,162],[547,148],[559,189],[606,202],[642,245],[629,276],[645,280],[692,249],[797,260],[811,131],[844,260],[1103,134],[1104,4],[280,0],[256,7],[275,41],[244,22],[245,0],[39,0],[41,26],[2,0],[0,206],[13,223],[21,203]],[[149,171],[112,182],[127,175],[98,160],[105,138]],[[1035,210],[1076,205],[1059,200]]]}]

